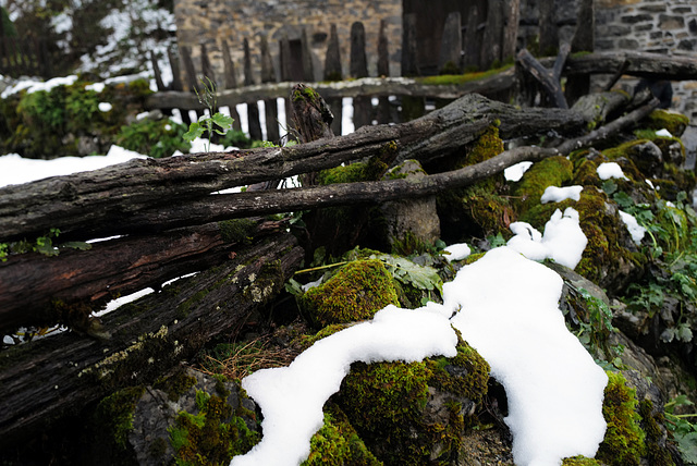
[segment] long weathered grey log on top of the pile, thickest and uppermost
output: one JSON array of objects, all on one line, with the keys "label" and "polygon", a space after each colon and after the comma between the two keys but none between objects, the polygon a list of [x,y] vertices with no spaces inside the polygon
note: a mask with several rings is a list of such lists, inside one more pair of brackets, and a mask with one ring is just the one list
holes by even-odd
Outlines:
[{"label": "long weathered grey log on top of the pile, thickest and uppermost", "polygon": [[[89,240],[114,234],[156,232],[208,223],[162,228],[155,217],[135,224],[135,214],[158,206],[187,210],[188,199],[204,203],[220,189],[283,180],[371,157],[389,143],[398,160],[445,157],[472,143],[500,121],[502,137],[529,136],[555,130],[582,131],[588,123],[561,109],[517,109],[478,95],[467,95],[426,116],[399,125],[366,126],[353,134],[283,148],[197,154],[167,159],[131,160],[93,172],[39,180],[0,189],[0,241],[37,237],[51,228],[61,238]],[[234,210],[234,206],[231,206]],[[284,211],[290,211],[286,209]],[[150,213],[148,213],[150,214]],[[211,220],[212,221],[212,220]]]}]

